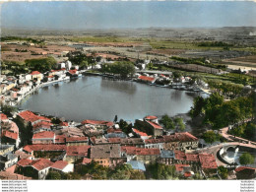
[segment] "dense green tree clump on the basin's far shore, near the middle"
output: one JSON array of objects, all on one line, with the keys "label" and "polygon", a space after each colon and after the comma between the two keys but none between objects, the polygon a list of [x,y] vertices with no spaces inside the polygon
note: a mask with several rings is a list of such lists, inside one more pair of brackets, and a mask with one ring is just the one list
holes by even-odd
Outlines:
[{"label": "dense green tree clump on the basin's far shore, near the middle", "polygon": [[135,73],[135,67],[129,61],[117,61],[114,63],[106,63],[102,65],[101,71],[103,73],[119,75],[122,79],[126,79]]}]

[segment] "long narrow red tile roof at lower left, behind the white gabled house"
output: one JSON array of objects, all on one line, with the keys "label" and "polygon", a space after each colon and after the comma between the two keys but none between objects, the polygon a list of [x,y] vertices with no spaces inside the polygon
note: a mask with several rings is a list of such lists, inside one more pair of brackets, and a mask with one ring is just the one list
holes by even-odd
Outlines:
[{"label": "long narrow red tile roof at lower left, behind the white gabled house", "polygon": [[65,145],[53,145],[53,144],[46,144],[46,145],[28,145],[24,147],[24,151],[26,152],[33,152],[33,151],[47,151],[47,152],[55,152],[55,151],[66,151],[67,147]]}]

